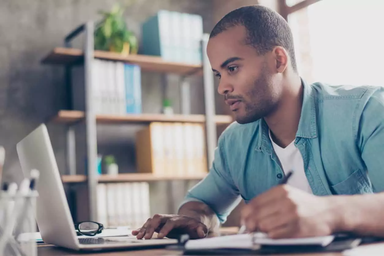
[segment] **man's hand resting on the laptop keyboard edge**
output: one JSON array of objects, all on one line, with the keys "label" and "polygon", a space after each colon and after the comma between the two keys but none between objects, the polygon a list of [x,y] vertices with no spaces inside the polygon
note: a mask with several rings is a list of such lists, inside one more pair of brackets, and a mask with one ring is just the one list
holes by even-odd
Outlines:
[{"label": "man's hand resting on the laptop keyboard edge", "polygon": [[141,228],[132,231],[137,239],[151,239],[157,232],[158,238],[177,238],[188,234],[191,239],[204,238],[208,234],[208,228],[202,222],[184,215],[160,215],[155,214],[149,218]]}]

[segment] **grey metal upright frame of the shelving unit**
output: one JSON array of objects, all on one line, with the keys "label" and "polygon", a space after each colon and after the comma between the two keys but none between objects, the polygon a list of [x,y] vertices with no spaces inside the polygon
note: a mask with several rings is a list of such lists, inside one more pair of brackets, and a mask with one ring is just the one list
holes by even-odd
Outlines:
[{"label": "grey metal upright frame of the shelving unit", "polygon": [[[86,152],[87,152],[87,173],[88,173],[88,192],[89,192],[89,217],[91,221],[97,221],[97,193],[96,186],[98,177],[95,172],[97,169],[97,134],[96,134],[96,113],[94,112],[93,102],[93,76],[94,68],[94,22],[88,21],[83,25],[69,33],[64,39],[64,45],[71,48],[71,41],[81,33],[84,33],[84,72],[85,72],[85,126],[86,126]],[[207,43],[209,35],[204,34],[201,40],[202,56],[203,56],[203,81],[204,81],[204,101],[205,101],[205,125],[207,140],[207,162],[212,165],[214,159],[214,150],[217,145],[217,132],[215,117],[215,92],[214,92],[214,76],[212,68],[207,57]],[[67,79],[70,67],[66,67]],[[191,74],[192,75],[192,74]],[[70,80],[69,80],[70,81]],[[167,88],[167,79],[164,81],[162,88]],[[190,84],[183,76],[181,78],[180,97],[182,102],[182,114],[190,114]],[[67,84],[69,86],[69,84]],[[68,95],[71,95],[69,93]],[[165,95],[165,93],[163,93]],[[76,143],[73,126],[76,123],[68,124],[67,129],[67,168],[70,175],[76,174]],[[172,191],[169,191],[172,195]]]}]

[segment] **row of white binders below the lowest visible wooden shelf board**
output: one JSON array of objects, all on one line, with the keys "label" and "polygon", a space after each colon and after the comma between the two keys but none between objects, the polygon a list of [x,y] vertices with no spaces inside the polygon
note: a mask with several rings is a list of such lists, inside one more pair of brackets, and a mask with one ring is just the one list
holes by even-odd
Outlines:
[{"label": "row of white binders below the lowest visible wooden shelf board", "polygon": [[141,227],[150,217],[147,182],[99,183],[98,222],[106,228]]}]

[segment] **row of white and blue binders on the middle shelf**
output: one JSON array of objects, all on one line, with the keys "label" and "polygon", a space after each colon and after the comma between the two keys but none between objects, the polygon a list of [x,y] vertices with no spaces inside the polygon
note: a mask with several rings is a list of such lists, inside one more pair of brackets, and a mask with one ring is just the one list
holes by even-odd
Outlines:
[{"label": "row of white and blue binders on the middle shelf", "polygon": [[[96,114],[141,113],[141,68],[121,61],[94,59],[93,108]],[[72,68],[73,109],[84,111],[84,66]]]}]

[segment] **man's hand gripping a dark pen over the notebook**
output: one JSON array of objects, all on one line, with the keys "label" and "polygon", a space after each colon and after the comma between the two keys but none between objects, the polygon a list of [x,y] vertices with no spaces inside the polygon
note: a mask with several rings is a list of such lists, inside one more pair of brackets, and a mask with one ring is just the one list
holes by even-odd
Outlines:
[{"label": "man's hand gripping a dark pen over the notebook", "polygon": [[318,197],[289,185],[279,185],[253,198],[242,210],[248,232],[270,238],[331,235],[338,215],[332,197]]}]

